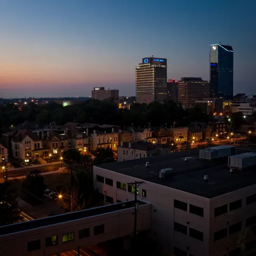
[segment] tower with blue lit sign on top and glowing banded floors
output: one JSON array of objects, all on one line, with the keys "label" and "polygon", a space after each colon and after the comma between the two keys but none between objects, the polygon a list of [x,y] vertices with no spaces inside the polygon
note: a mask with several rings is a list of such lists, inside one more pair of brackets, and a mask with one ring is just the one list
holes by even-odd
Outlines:
[{"label": "tower with blue lit sign on top and glowing banded floors", "polygon": [[143,58],[135,69],[136,99],[139,103],[163,102],[167,96],[167,59]]}]

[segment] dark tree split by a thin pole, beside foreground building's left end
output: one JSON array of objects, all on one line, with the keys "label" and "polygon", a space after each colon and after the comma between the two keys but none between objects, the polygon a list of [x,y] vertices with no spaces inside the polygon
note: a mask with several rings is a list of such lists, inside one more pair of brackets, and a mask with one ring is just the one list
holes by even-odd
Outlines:
[{"label": "dark tree split by a thin pole, beside foreground building's left end", "polygon": [[[65,182],[60,194],[61,198],[57,203],[62,209],[70,211],[71,209],[71,182],[70,179]],[[93,188],[93,176],[86,172],[82,167],[75,169],[73,176],[73,211],[88,209],[98,206],[100,197],[97,190]]]}]

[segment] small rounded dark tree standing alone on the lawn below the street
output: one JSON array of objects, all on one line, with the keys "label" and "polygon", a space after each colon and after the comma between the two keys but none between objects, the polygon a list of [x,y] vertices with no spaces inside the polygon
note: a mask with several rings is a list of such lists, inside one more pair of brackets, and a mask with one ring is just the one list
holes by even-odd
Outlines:
[{"label": "small rounded dark tree standing alone on the lawn below the street", "polygon": [[39,198],[43,196],[44,190],[46,189],[44,177],[38,174],[28,174],[24,179],[22,186],[31,194]]}]

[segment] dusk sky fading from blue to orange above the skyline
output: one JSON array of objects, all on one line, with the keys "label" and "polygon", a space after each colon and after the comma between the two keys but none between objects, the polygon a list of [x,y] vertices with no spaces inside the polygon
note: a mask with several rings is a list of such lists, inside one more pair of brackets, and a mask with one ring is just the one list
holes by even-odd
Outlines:
[{"label": "dusk sky fading from blue to orange above the skyline", "polygon": [[209,80],[210,44],[234,50],[234,93],[256,94],[255,0],[0,0],[0,98],[135,95],[135,67]]}]

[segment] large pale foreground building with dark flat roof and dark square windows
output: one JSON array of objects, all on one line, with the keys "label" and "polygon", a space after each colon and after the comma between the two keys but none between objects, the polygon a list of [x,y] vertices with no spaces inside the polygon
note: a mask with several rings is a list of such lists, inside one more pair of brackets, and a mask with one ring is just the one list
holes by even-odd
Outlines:
[{"label": "large pale foreground building with dark flat roof and dark square windows", "polygon": [[94,187],[117,203],[134,198],[128,183],[145,182],[137,199],[151,203],[151,237],[166,255],[249,255],[256,248],[256,175],[229,172],[226,160],[199,159],[193,150],[102,164],[93,166]]}]

